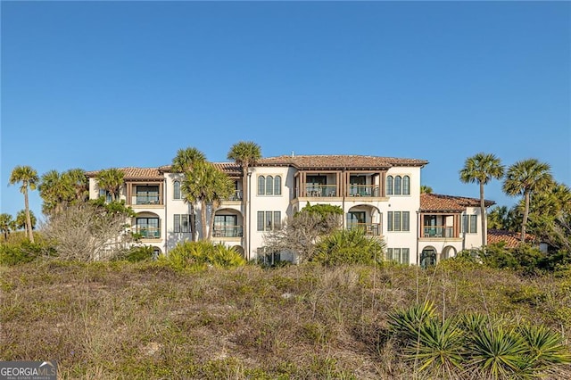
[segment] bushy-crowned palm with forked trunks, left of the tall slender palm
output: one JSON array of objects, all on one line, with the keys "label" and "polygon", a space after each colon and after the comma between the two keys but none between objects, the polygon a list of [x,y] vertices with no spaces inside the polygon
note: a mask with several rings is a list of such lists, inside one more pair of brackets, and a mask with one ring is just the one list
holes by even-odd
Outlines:
[{"label": "bushy-crowned palm with forked trunks, left of the tall slender palm", "polygon": [[211,219],[213,219],[216,204],[234,191],[232,182],[210,162],[196,162],[192,171],[186,172],[180,190],[186,202],[201,203],[203,240],[210,239],[211,233],[207,230],[208,204],[211,203]]}]

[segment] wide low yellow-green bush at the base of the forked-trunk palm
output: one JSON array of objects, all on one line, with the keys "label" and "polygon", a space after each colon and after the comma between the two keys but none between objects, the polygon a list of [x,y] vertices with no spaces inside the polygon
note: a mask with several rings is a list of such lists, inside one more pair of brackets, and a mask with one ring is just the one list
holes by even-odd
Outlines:
[{"label": "wide low yellow-green bush at the base of the forked-trunk palm", "polygon": [[188,268],[233,268],[245,265],[246,260],[233,247],[210,242],[184,242],[177,244],[170,252],[159,258],[170,267],[182,270]]}]

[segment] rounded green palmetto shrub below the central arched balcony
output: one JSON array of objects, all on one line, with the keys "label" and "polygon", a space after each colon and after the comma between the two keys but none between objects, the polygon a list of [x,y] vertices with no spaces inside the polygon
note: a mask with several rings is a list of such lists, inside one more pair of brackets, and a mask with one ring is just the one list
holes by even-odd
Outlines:
[{"label": "rounded green palmetto shrub below the central arched balcony", "polygon": [[327,266],[373,264],[383,260],[384,249],[385,243],[382,240],[365,235],[362,228],[341,229],[319,242],[311,261]]}]

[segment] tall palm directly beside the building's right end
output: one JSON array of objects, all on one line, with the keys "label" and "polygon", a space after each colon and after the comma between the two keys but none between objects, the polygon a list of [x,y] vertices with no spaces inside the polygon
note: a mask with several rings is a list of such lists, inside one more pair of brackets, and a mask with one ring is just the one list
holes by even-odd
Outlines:
[{"label": "tall palm directly beside the building's right end", "polygon": [[485,230],[485,201],[484,185],[492,178],[501,179],[504,167],[501,161],[492,153],[477,153],[473,157],[468,157],[464,162],[464,168],[459,172],[460,181],[463,183],[478,183],[480,185],[480,217],[482,219],[482,246],[486,242]]}]

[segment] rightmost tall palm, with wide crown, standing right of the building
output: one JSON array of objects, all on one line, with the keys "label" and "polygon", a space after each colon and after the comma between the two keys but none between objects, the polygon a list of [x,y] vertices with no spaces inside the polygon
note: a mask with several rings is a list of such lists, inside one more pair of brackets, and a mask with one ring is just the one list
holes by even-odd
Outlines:
[{"label": "rightmost tall palm, with wide crown, standing right of the building", "polygon": [[503,183],[504,193],[524,195],[524,218],[521,222],[521,241],[525,242],[525,225],[529,216],[529,202],[534,192],[547,189],[553,183],[550,165],[536,159],[517,161],[511,165]]}]

